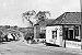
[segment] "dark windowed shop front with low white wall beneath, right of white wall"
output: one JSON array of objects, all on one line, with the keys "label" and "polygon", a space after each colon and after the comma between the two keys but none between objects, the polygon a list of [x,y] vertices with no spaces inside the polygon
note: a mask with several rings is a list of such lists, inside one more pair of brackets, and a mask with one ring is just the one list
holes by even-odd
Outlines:
[{"label": "dark windowed shop front with low white wall beneath, right of white wall", "polygon": [[63,26],[65,47],[81,48],[80,25]]}]

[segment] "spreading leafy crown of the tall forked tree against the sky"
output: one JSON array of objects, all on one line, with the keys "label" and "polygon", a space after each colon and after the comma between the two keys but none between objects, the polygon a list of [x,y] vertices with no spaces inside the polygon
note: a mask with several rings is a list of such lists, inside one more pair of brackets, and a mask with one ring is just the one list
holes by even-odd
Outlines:
[{"label": "spreading leafy crown of the tall forked tree against the sky", "polygon": [[[49,11],[39,11],[36,13],[34,10],[32,10],[23,13],[23,20],[26,19],[27,21],[30,21],[32,26],[34,26],[34,24],[36,24],[37,22],[48,19],[47,14],[50,16]],[[34,18],[32,18],[33,15]]]}]

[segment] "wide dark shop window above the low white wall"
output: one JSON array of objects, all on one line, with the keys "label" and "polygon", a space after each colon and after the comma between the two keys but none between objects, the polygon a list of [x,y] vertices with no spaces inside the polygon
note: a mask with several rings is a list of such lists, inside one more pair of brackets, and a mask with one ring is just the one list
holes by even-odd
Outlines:
[{"label": "wide dark shop window above the low white wall", "polygon": [[75,29],[65,29],[65,40],[81,42],[79,26]]}]

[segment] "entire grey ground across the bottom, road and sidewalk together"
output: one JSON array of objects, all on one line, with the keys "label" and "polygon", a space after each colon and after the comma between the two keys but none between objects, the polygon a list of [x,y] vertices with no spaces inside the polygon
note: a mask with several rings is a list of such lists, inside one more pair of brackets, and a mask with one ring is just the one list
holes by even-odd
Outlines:
[{"label": "entire grey ground across the bottom, road and sidewalk together", "polygon": [[[42,52],[40,52],[42,51]],[[40,53],[40,54],[39,54]],[[82,55],[82,50],[27,44],[26,42],[4,42],[0,44],[0,55]]]}]

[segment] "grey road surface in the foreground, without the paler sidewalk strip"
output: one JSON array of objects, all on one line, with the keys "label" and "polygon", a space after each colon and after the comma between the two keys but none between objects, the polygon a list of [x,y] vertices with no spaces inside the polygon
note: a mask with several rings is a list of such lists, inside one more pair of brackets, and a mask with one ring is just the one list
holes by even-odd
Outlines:
[{"label": "grey road surface in the foreground, without the paler sidewalk strip", "polygon": [[45,45],[9,42],[0,44],[0,55],[79,55],[63,51],[50,50]]}]

